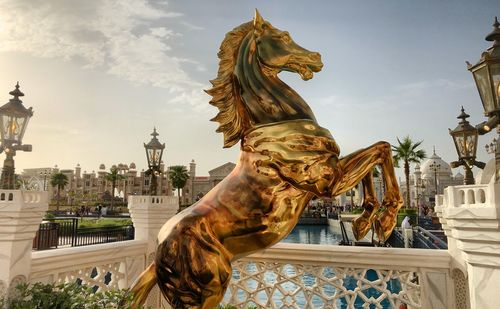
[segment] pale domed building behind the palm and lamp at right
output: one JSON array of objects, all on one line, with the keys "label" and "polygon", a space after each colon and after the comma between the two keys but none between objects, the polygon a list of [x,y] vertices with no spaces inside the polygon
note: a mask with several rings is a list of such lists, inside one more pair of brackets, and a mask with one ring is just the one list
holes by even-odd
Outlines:
[{"label": "pale domed building behind the palm and lamp at right", "polygon": [[[411,207],[434,206],[435,195],[443,194],[443,190],[448,186],[462,185],[464,176],[457,172],[453,175],[451,166],[436,154],[434,149],[430,158],[422,165],[415,167],[410,174],[410,204]],[[401,183],[401,191],[406,196],[406,183]]]}]

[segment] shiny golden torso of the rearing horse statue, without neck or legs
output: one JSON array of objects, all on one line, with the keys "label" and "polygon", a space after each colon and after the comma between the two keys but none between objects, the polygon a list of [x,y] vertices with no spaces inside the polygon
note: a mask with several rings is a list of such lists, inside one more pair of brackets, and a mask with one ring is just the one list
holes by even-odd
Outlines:
[{"label": "shiny golden torso of the rearing horse statue, without neck or legs", "polygon": [[315,186],[329,185],[321,172],[334,168],[337,155],[329,132],[312,121],[256,129],[247,134],[231,174],[169,220],[159,241],[173,230],[198,230],[220,242],[230,259],[269,247],[290,233],[313,192],[327,194]]}]

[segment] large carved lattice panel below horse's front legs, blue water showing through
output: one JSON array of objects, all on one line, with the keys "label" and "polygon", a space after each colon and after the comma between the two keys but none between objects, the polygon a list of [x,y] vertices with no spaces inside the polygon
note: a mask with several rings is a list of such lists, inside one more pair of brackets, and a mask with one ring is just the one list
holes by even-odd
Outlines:
[{"label": "large carved lattice panel below horse's front legs, blue water showing through", "polygon": [[238,308],[421,308],[418,273],[265,262],[233,263],[224,303]]}]

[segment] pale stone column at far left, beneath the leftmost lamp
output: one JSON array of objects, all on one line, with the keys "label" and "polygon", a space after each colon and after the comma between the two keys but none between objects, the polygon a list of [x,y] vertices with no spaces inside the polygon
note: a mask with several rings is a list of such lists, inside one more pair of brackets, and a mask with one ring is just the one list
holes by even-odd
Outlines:
[{"label": "pale stone column at far left, beneath the leftmost lamp", "polygon": [[48,207],[45,191],[0,190],[0,296],[29,280],[33,238]]}]

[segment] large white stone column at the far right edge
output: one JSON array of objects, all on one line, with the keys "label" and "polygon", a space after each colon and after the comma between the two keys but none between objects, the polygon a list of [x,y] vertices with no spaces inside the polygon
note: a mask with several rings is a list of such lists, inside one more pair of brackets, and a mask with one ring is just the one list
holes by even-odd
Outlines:
[{"label": "large white stone column at the far right edge", "polygon": [[[468,283],[470,308],[498,308],[500,282],[500,185],[454,186],[439,196],[436,212],[448,236],[448,250],[457,267],[452,276],[464,271]],[[454,273],[453,273],[454,272]],[[457,308],[463,298],[455,285]],[[467,306],[465,299],[465,306]]]}]

